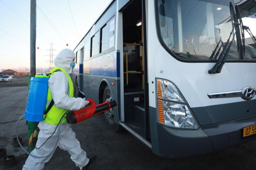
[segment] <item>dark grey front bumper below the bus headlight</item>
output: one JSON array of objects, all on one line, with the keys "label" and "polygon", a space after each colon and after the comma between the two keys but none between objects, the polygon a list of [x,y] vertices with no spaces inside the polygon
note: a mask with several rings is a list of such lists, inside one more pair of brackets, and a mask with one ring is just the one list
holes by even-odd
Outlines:
[{"label": "dark grey front bumper below the bus headlight", "polygon": [[[156,134],[151,134],[152,150],[156,155],[171,158],[206,154],[256,139],[256,135],[243,137],[243,128],[254,124],[256,116],[205,125],[198,130],[173,129],[157,123]],[[154,135],[158,138],[154,139]]]}]

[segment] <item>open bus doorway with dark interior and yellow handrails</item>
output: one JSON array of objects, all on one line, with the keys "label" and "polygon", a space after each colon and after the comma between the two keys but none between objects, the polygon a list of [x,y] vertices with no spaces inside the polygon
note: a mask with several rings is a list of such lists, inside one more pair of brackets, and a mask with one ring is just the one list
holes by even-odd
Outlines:
[{"label": "open bus doorway with dark interior and yellow handrails", "polygon": [[147,139],[142,23],[142,2],[132,1],[123,10],[123,123],[130,130]]}]

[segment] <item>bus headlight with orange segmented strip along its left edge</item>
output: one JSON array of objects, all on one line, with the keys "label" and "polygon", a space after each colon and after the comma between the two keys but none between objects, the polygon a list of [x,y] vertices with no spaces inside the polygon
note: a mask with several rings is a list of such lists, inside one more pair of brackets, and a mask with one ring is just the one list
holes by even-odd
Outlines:
[{"label": "bus headlight with orange segmented strip along its left edge", "polygon": [[158,122],[174,128],[198,129],[186,100],[173,83],[157,79]]}]

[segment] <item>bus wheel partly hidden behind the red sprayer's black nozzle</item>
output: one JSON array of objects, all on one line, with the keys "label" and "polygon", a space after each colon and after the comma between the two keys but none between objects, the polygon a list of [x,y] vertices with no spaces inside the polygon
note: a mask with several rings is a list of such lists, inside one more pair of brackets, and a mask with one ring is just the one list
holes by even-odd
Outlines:
[{"label": "bus wheel partly hidden behind the red sprayer's black nozzle", "polygon": [[[111,101],[111,94],[109,87],[107,86],[104,90],[103,93],[103,101]],[[115,122],[115,117],[114,117],[114,110],[111,108],[109,111],[104,112],[105,120],[107,121],[110,129],[114,132],[119,132],[122,130],[122,127]]]}]

